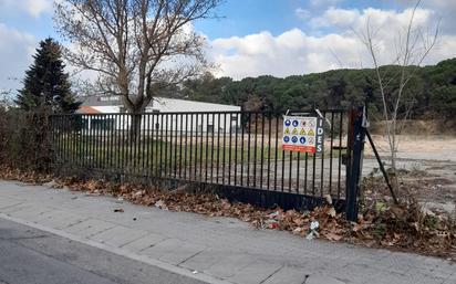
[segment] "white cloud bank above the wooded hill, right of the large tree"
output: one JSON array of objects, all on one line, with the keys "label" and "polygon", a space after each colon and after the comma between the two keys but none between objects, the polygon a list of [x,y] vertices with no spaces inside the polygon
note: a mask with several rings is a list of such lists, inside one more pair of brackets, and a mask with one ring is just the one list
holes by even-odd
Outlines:
[{"label": "white cloud bank above the wooded hill, right of the large tree", "polygon": [[[312,18],[315,28],[331,27],[328,34],[292,29],[277,36],[268,31],[247,36],[232,36],[211,41],[213,60],[220,66],[216,75],[235,78],[258,75],[288,76],[322,72],[340,67],[372,66],[365,46],[352,31],[363,32],[367,21],[375,30],[375,49],[381,64],[391,64],[397,44],[412,14],[403,11],[346,10],[329,8]],[[434,12],[418,9],[415,28],[425,30],[435,23]],[[431,29],[432,31],[432,29]],[[320,34],[320,35],[314,35]],[[456,35],[443,34],[425,64],[455,56]]]}]

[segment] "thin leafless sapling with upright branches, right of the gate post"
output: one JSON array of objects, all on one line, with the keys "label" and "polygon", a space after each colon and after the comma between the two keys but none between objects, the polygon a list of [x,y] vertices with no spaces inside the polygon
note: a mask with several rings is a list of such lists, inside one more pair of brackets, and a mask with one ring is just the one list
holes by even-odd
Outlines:
[{"label": "thin leafless sapling with upright branches, right of the gate post", "polygon": [[[398,32],[395,46],[391,46],[391,49],[395,50],[395,57],[390,64],[397,67],[396,72],[391,72],[391,69],[385,69],[385,72],[382,72],[381,63],[379,62],[379,45],[375,41],[376,31],[372,28],[369,19],[364,31],[354,31],[365,45],[374,64],[375,77],[383,103],[383,119],[386,124],[386,137],[390,148],[391,170],[393,173],[391,178],[393,187],[396,190],[398,187],[396,175],[397,133],[401,132],[412,109],[410,99],[406,102],[404,96],[411,80],[414,78],[418,71],[418,66],[423,64],[434,48],[439,30],[439,24],[437,24],[433,33],[426,33],[419,27],[415,27],[414,20],[419,4],[421,0],[415,3],[405,30]],[[414,95],[416,96],[416,94],[408,95],[412,97]]]}]

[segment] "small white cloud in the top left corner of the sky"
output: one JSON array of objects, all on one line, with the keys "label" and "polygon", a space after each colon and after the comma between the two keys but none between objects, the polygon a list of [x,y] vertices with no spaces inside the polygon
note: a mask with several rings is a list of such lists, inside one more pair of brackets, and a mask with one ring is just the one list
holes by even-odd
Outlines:
[{"label": "small white cloud in the top left corner of the sky", "polygon": [[42,13],[52,12],[54,0],[1,0],[0,9],[25,11],[34,18],[39,18]]}]

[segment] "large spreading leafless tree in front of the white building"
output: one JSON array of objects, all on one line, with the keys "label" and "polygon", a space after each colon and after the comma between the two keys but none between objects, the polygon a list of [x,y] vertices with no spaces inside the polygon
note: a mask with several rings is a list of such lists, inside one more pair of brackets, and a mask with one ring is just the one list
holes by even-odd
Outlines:
[{"label": "large spreading leafless tree in front of the white building", "polygon": [[[164,87],[208,66],[197,19],[214,18],[220,0],[62,0],[54,21],[72,43],[66,59],[100,74],[104,93],[121,95],[132,114]],[[133,133],[141,116],[134,116]]]}]

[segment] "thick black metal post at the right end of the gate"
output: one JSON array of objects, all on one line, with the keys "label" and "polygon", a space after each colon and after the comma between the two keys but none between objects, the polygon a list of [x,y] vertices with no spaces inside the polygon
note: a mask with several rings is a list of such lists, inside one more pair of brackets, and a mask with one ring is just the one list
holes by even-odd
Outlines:
[{"label": "thick black metal post at the right end of the gate", "polygon": [[[350,113],[351,124],[349,137],[350,140],[350,148],[349,148],[349,157],[350,158],[350,167],[348,170],[350,171],[348,175],[348,187],[346,187],[346,207],[345,213],[346,219],[350,221],[357,220],[357,196],[360,193],[360,178],[362,173],[362,158],[363,158],[363,150],[364,150],[364,138],[365,138],[365,130],[364,130],[364,119],[365,119],[365,107],[357,107],[352,109]],[[349,166],[348,165],[348,166]]]}]

